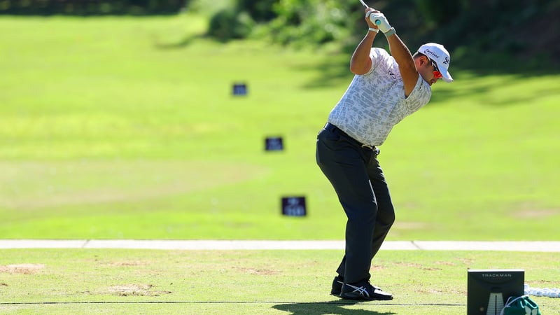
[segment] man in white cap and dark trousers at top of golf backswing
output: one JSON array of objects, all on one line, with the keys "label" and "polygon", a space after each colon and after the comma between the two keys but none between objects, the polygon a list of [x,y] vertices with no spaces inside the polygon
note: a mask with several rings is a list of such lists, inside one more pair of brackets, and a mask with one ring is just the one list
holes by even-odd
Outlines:
[{"label": "man in white cap and dark trousers at top of golf backswing", "polygon": [[[442,45],[426,43],[412,56],[382,13],[366,8],[365,21],[369,29],[350,62],[355,76],[317,136],[316,160],[348,218],[346,249],[331,294],[392,300],[393,295],[370,284],[372,258],[395,221],[378,147],[393,126],[430,101],[431,85],[453,78]],[[391,55],[372,48],[379,31]]]}]

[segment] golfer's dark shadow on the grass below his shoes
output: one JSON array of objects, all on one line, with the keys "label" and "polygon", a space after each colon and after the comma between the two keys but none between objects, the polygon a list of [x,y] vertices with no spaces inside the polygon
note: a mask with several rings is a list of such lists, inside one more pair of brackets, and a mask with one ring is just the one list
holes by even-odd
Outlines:
[{"label": "golfer's dark shadow on the grass below his shoes", "polygon": [[393,315],[393,312],[368,311],[365,309],[345,309],[345,306],[358,304],[358,301],[345,302],[307,302],[276,304],[274,309],[289,311],[293,315]]}]

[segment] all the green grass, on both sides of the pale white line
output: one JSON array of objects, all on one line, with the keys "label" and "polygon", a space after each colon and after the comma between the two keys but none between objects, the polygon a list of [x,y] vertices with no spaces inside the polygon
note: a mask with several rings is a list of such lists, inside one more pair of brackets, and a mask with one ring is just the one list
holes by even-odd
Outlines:
[{"label": "all the green grass, on both sides of the pale white line", "polygon": [[[204,26],[0,17],[1,238],[344,237],[314,139],[351,80],[349,56],[221,45]],[[560,76],[451,71],[381,147],[398,209],[388,239],[557,240]],[[237,81],[248,97],[230,95]],[[271,135],[286,151],[262,150]],[[283,195],[305,195],[309,216],[282,217]],[[344,304],[328,295],[340,255],[0,250],[0,312],[465,314],[468,268],[560,286],[557,253],[381,251],[374,283],[395,300]]]}]

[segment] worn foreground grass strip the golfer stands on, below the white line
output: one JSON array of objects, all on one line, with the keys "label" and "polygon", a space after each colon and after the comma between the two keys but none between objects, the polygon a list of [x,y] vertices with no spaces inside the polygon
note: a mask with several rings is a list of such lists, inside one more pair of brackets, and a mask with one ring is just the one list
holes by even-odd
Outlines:
[{"label": "worn foreground grass strip the golfer stands on, below the white line", "polygon": [[[393,293],[394,300],[351,304],[329,295],[340,255],[339,251],[0,250],[0,312],[454,315],[466,311],[468,268],[522,268],[530,286],[560,286],[556,253],[381,251],[372,266],[372,279]],[[532,298],[542,314],[560,310],[557,299]]]}]

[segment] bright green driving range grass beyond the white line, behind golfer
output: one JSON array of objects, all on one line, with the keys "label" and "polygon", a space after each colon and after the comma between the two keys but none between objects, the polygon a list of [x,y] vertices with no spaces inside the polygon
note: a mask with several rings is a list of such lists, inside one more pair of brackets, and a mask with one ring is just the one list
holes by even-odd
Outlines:
[{"label": "bright green driving range grass beyond the white line, behind golfer", "polygon": [[[349,55],[218,44],[204,23],[0,18],[3,238],[344,237],[314,140]],[[388,239],[558,239],[560,76],[451,71],[381,146]],[[286,151],[265,153],[276,135]],[[307,218],[280,215],[285,195]]]}]

